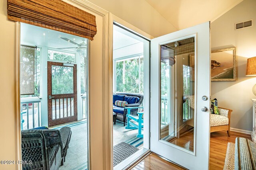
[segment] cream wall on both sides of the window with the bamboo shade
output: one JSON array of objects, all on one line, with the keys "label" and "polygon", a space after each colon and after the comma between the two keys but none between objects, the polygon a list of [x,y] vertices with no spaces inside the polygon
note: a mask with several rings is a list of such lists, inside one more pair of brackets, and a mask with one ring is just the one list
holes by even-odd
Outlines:
[{"label": "cream wall on both sides of the window with the bamboo shade", "polygon": [[[67,2],[67,1],[66,1]],[[71,2],[68,2],[71,3]],[[86,10],[89,12],[88,10]],[[92,13],[94,14],[94,13]],[[103,18],[96,16],[97,34],[90,43],[90,84],[91,112],[91,168],[103,167],[103,127],[102,127],[102,56]],[[15,119],[14,119],[14,22],[7,19],[7,1],[0,1],[0,160],[15,160]],[[0,170],[13,170],[15,165],[2,165]]]}]

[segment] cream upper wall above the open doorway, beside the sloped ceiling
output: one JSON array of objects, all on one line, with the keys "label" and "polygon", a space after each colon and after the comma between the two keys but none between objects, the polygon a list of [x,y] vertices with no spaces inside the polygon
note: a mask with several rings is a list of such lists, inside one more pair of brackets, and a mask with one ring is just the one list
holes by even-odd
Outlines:
[{"label": "cream upper wall above the open doorway, beside the sloped ceiling", "polygon": [[145,0],[89,0],[142,31],[159,37],[177,29]]}]

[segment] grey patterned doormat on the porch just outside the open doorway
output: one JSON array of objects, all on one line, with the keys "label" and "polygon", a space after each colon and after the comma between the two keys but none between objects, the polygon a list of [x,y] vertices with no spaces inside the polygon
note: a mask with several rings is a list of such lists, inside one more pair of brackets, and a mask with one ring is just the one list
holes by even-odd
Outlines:
[{"label": "grey patterned doormat on the porch just outside the open doorway", "polygon": [[128,144],[121,142],[113,147],[113,164],[116,166],[139,149]]}]

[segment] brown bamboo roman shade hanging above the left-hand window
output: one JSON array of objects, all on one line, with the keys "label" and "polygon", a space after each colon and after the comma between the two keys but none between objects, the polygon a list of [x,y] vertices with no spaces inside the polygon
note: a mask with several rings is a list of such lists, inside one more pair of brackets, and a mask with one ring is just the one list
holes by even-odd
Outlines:
[{"label": "brown bamboo roman shade hanging above the left-hand window", "polygon": [[93,40],[96,17],[62,0],[7,0],[8,19]]}]

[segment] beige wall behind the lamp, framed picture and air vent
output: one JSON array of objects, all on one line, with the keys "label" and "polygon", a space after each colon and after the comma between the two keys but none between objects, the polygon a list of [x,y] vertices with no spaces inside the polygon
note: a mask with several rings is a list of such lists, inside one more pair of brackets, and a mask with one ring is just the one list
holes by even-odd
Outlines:
[{"label": "beige wall behind the lamp, framed picture and air vent", "polygon": [[[212,96],[218,106],[232,109],[231,127],[252,131],[252,86],[256,77],[246,77],[246,60],[256,56],[256,0],[244,0],[212,22],[212,47],[234,45],[237,50],[237,81],[212,82]],[[234,23],[253,19],[253,27],[236,30]]]}]

